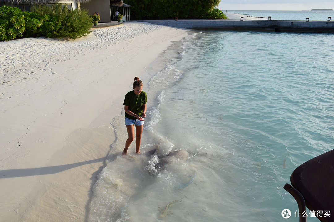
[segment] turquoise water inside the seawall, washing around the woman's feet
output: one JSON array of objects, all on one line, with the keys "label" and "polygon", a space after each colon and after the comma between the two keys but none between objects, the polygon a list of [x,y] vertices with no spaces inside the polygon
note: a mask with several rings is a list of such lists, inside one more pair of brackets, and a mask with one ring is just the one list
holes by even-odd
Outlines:
[{"label": "turquoise water inside the seawall, washing around the woman's feet", "polygon": [[[120,155],[124,113],[113,120],[88,221],[298,221],[283,186],[334,148],[333,57],[333,34],[199,30],[174,42],[143,74],[141,155],[134,144]],[[188,155],[154,168],[176,150]]]}]

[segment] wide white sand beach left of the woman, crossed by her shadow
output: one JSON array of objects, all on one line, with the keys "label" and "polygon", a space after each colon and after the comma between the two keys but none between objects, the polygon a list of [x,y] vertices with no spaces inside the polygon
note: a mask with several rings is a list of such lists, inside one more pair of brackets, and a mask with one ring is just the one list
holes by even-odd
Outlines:
[{"label": "wide white sand beach left of the woman, crossed by her shadow", "polygon": [[133,78],[186,35],[127,22],[75,41],[0,42],[1,222],[85,221]]}]

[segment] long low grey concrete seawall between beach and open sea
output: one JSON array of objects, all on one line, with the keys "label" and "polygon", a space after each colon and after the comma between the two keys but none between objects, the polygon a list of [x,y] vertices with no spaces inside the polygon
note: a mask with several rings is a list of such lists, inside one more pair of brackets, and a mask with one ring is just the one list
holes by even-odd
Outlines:
[{"label": "long low grey concrete seawall between beach and open sea", "polygon": [[186,29],[222,29],[266,32],[334,33],[334,21],[285,20],[145,20],[151,24]]}]

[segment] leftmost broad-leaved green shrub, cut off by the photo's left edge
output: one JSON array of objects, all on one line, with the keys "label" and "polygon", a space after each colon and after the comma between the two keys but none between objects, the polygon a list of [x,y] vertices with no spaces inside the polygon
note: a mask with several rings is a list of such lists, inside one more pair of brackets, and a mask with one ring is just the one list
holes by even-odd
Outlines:
[{"label": "leftmost broad-leaved green shrub, cut off by the photo's left edge", "polygon": [[18,8],[0,7],[0,40],[8,41],[22,37],[25,31],[25,16]]}]

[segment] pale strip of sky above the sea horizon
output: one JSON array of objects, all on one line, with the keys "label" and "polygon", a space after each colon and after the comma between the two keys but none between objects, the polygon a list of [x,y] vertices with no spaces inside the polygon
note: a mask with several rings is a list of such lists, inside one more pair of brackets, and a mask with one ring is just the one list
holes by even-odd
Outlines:
[{"label": "pale strip of sky above the sea horizon", "polygon": [[[279,2],[279,3],[278,3]],[[287,10],[333,9],[334,0],[220,0],[224,10]]]}]

